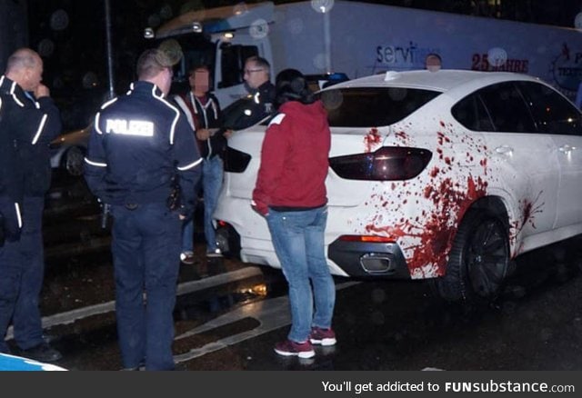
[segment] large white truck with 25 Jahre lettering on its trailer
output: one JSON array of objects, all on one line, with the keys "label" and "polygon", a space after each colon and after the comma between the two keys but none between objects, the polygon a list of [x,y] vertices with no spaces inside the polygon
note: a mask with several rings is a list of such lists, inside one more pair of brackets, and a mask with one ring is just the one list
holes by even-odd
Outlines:
[{"label": "large white truck with 25 Jahre lettering on its trailer", "polygon": [[271,63],[272,79],[287,67],[349,78],[422,69],[429,53],[447,69],[534,75],[569,98],[582,79],[577,29],[353,1],[239,4],[189,12],[146,32],[181,45],[176,78],[184,84],[190,65],[212,65],[223,106],[245,93],[242,69],[250,55]]}]

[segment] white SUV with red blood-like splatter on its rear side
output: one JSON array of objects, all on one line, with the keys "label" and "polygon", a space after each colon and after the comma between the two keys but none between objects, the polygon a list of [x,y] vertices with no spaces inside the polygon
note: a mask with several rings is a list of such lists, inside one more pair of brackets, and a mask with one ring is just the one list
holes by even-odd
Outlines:
[{"label": "white SUV with red blood-like splatter on its rear side", "polygon": [[[388,72],[320,92],[333,274],[431,278],[449,301],[494,298],[510,259],[582,233],[582,114],[527,75]],[[250,205],[266,122],[229,140],[218,241],[278,267]]]}]

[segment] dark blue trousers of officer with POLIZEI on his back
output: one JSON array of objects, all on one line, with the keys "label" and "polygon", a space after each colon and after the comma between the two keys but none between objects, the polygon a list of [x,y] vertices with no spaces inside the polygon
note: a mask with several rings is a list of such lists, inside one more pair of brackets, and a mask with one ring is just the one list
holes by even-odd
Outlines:
[{"label": "dark blue trousers of officer with POLIZEI on his back", "polygon": [[111,206],[115,316],[125,368],[172,370],[182,222],[166,204]]}]

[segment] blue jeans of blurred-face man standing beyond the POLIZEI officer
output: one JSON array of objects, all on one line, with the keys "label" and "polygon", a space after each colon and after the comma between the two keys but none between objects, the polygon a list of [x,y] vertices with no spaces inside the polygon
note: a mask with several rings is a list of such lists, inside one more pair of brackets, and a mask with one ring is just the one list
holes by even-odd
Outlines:
[{"label": "blue jeans of blurred-face man standing beyond the POLIZEI officer", "polygon": [[[205,159],[202,164],[202,190],[204,194],[204,234],[206,253],[216,250],[216,231],[212,224],[212,214],[218,203],[224,175],[223,161],[220,156]],[[194,242],[194,219],[186,221],[182,230],[182,252],[192,252]]]}]

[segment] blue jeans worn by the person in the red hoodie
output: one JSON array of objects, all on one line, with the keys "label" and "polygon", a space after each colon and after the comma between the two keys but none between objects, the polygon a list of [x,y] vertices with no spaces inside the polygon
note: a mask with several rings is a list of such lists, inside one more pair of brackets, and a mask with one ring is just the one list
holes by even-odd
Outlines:
[{"label": "blue jeans worn by the person in the red hoodie", "polygon": [[305,342],[312,326],[331,327],[336,304],[336,286],[324,245],[327,207],[299,212],[269,209],[266,222],[289,284],[292,324],[288,338]]}]

